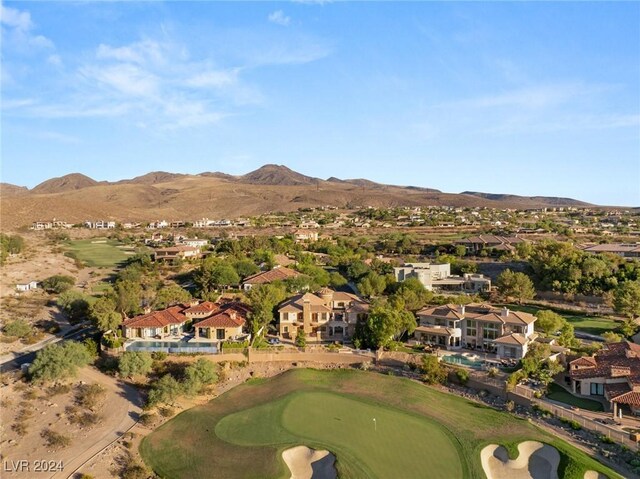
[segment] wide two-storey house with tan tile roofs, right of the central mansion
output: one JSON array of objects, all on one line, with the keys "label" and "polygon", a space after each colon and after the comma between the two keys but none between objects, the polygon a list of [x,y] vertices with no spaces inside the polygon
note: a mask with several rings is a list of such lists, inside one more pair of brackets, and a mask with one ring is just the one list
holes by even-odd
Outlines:
[{"label": "wide two-storey house with tan tile roofs, right of the central mansion", "polygon": [[522,359],[536,338],[534,315],[489,304],[446,304],[421,309],[417,316],[415,338],[446,349],[479,349]]}]

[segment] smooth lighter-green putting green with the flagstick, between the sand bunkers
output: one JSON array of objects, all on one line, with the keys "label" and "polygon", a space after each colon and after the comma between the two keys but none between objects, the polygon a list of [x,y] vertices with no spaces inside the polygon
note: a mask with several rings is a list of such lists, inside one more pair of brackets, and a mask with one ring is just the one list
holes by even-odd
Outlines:
[{"label": "smooth lighter-green putting green with the flagstick, between the sand bunkers", "polygon": [[455,438],[437,423],[332,393],[293,393],[231,414],[218,423],[216,434],[245,446],[288,443],[328,449],[347,477],[395,477],[399,471],[407,479],[425,477],[425,471],[435,479],[463,477]]}]

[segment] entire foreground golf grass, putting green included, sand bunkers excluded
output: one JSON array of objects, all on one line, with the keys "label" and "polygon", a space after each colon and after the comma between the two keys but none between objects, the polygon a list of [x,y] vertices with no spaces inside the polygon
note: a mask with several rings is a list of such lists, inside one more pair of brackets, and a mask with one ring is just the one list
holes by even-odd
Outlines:
[{"label": "entire foreground golf grass, putting green included, sand bunkers excluded", "polygon": [[166,479],[288,478],[281,453],[298,444],[333,452],[341,478],[484,478],[484,446],[528,439],[558,448],[560,477],[582,479],[589,469],[620,477],[527,421],[357,370],[295,369],[249,381],[156,429],[140,453]]}]

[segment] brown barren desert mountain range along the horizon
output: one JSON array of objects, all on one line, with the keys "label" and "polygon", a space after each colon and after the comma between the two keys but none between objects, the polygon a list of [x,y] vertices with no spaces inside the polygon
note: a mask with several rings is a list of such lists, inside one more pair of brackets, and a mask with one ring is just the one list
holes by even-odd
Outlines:
[{"label": "brown barren desert mountain range along the horizon", "polygon": [[116,182],[96,181],[80,173],[46,180],[32,189],[0,183],[2,224],[19,227],[59,218],[193,221],[202,217],[236,218],[313,206],[480,206],[533,208],[591,206],[571,198],[518,196],[465,191],[460,194],[416,186],[395,186],[366,179],[323,180],[282,165],[265,165],[245,175],[198,175],[154,171]]}]

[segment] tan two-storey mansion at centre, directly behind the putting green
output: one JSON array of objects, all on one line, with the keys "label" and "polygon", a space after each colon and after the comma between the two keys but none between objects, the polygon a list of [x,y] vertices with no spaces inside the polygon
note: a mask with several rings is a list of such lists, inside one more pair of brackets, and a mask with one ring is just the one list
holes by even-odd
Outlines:
[{"label": "tan two-storey mansion at centre, directly behind the putting green", "polygon": [[355,294],[322,288],[293,296],[278,307],[278,334],[295,339],[304,330],[308,341],[345,341],[366,320],[369,303]]}]

